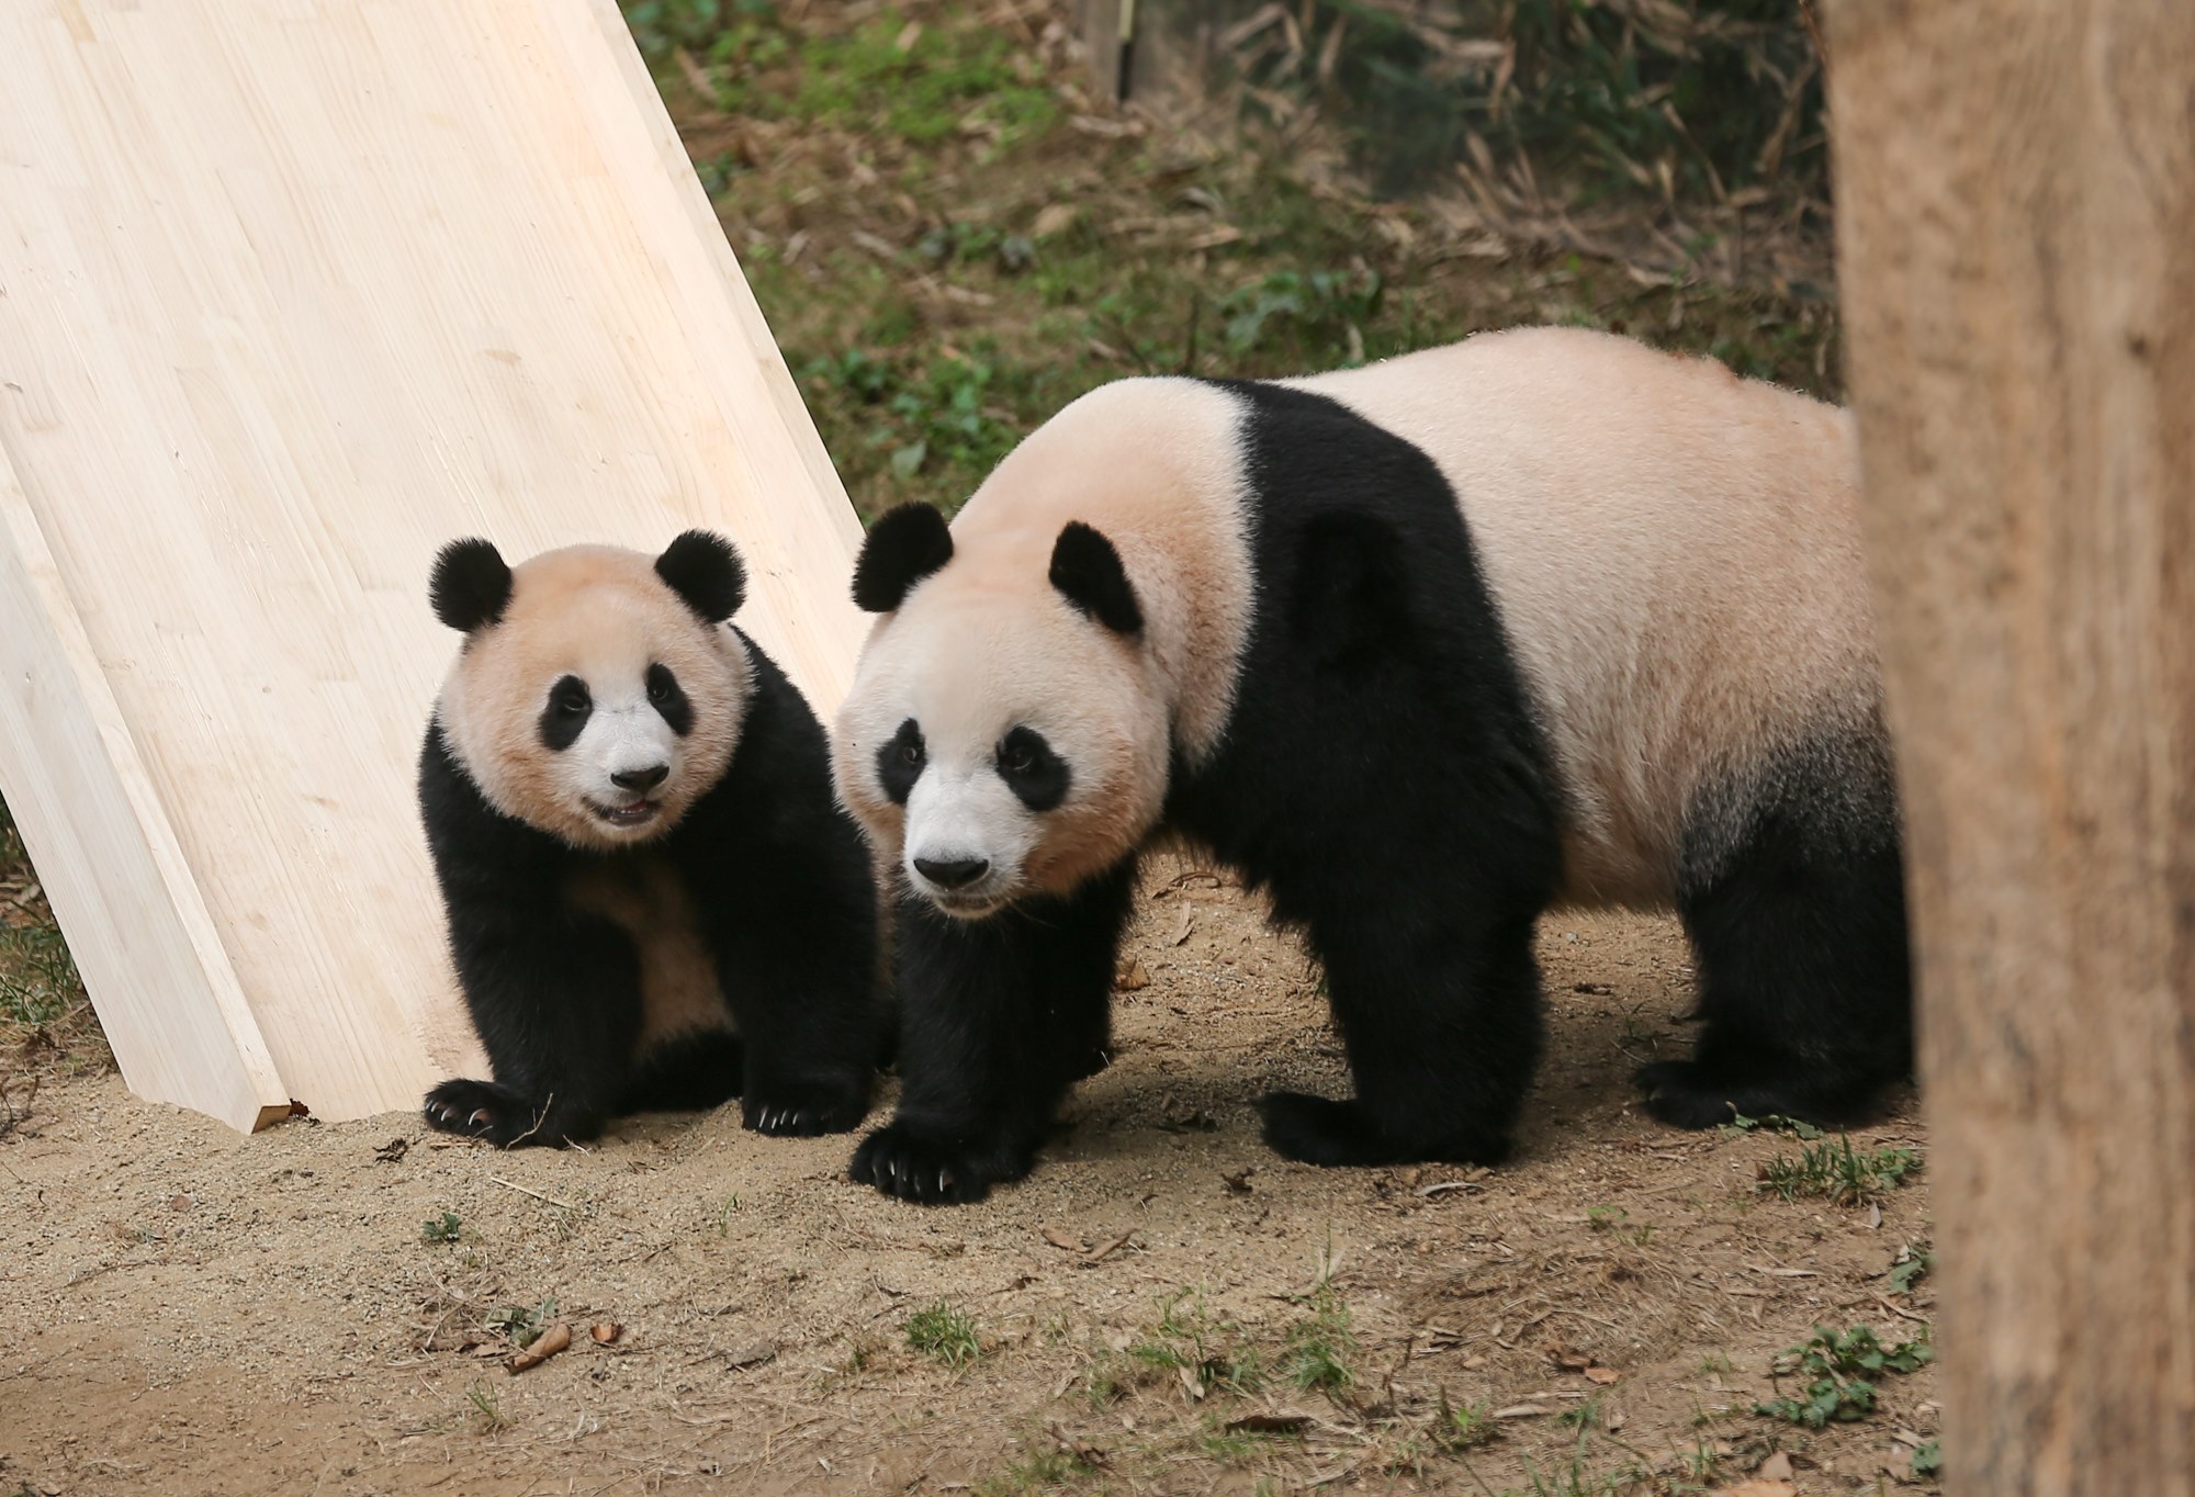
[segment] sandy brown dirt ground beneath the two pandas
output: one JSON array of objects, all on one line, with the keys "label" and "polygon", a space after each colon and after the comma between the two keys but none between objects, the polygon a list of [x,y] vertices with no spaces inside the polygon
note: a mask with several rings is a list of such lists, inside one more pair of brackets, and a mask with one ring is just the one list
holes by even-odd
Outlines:
[{"label": "sandy brown dirt ground beneath the two pandas", "polygon": [[[1346,1084],[1302,953],[1192,865],[1148,887],[1117,1062],[1038,1172],[975,1207],[887,1201],[845,1179],[852,1139],[764,1141],[731,1113],[496,1152],[413,1115],[246,1139],[112,1076],[18,1091],[0,1493],[1912,1482],[1929,1367],[1826,1433],[1752,1405],[1817,1324],[1921,1335],[1929,1284],[1888,1271],[1927,1236],[1925,1174],[1879,1205],[1782,1201],[1756,1172],[1796,1139],[1637,1115],[1629,1069],[1688,1043],[1670,924],[1547,922],[1517,1166],[1326,1172],[1271,1155],[1251,1106]],[[1853,1144],[1921,1144],[1910,1104]],[[426,1240],[443,1214],[457,1240]],[[507,1372],[489,1326],[547,1299],[573,1348]],[[957,1370],[904,1332],[939,1302],[979,1339]],[[1291,1381],[1306,1337],[1348,1387]]]}]

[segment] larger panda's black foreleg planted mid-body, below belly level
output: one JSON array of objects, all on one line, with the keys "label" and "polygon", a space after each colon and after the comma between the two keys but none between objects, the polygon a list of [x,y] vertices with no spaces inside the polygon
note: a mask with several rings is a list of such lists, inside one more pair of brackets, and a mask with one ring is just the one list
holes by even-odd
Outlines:
[{"label": "larger panda's black foreleg planted mid-body, below belly level", "polygon": [[1264,1098],[1264,1141],[1319,1166],[1501,1163],[1539,1062],[1532,922],[1361,911],[1310,942],[1357,1095]]}]

